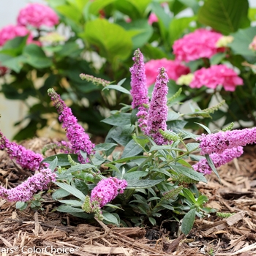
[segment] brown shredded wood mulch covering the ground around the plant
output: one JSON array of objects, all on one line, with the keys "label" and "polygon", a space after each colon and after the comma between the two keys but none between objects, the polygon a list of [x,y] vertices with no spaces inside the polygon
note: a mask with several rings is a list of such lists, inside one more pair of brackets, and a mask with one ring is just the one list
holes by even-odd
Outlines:
[{"label": "brown shredded wood mulch covering the ground around the plant", "polygon": [[[34,139],[26,147],[38,151],[48,142]],[[166,228],[90,225],[54,211],[57,203],[49,195],[44,195],[44,211],[19,211],[0,199],[0,255],[256,255],[256,147],[244,151],[219,168],[222,184],[213,174],[208,184],[197,185],[208,206],[234,215],[197,219],[187,237],[170,238]],[[1,185],[15,187],[28,175],[0,151]]]}]

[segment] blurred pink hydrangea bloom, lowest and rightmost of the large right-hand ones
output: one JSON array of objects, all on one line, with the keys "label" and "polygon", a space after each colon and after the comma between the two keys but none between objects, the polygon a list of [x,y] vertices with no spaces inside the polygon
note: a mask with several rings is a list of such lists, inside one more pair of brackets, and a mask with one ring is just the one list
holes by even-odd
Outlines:
[{"label": "blurred pink hydrangea bloom, lowest and rightmost of the large right-hand ones", "polygon": [[206,86],[211,89],[216,89],[219,85],[223,86],[225,91],[235,91],[236,86],[243,85],[243,80],[238,77],[233,69],[220,64],[213,65],[208,69],[203,67],[197,70],[189,84],[191,88]]}]

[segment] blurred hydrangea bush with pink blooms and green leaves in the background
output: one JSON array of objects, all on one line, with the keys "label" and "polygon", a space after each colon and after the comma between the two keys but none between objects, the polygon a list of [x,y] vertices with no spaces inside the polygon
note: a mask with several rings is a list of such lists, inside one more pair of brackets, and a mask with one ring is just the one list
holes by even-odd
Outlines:
[{"label": "blurred hydrangea bush with pink blooms and green leaves in the background", "polygon": [[[17,25],[0,31],[1,93],[28,106],[26,116],[15,124],[21,128],[13,139],[34,137],[44,127],[53,127],[57,116],[45,93],[52,87],[89,133],[104,137],[110,126],[99,121],[131,99],[113,89],[102,91],[102,85],[81,80],[80,73],[109,81],[128,78],[137,48],[148,63],[147,78],[152,74],[154,79],[152,70],[164,65],[169,96],[182,86],[177,102],[189,102],[191,112],[225,99],[226,105],[212,118],[190,115],[187,127],[193,128],[198,118],[217,127],[234,120],[238,127],[255,126],[256,9],[249,8],[247,0],[223,0],[222,5],[214,0],[48,0],[47,4],[51,9],[29,4],[18,13]],[[184,37],[193,33],[198,34]],[[225,67],[214,69],[217,64]],[[211,81],[213,74],[222,74],[222,80]],[[129,90],[129,84],[125,80],[124,88]]]}]

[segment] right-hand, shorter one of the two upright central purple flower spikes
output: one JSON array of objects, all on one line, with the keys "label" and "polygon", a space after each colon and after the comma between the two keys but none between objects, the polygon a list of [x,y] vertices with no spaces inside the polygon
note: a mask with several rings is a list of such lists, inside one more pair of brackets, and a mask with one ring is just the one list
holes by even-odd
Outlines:
[{"label": "right-hand, shorter one of the two upright central purple flower spikes", "polygon": [[167,129],[167,93],[169,79],[165,68],[159,68],[156,84],[154,86],[151,102],[148,109],[148,123],[146,134],[150,135],[157,145],[162,145],[168,142],[160,134],[159,129],[165,131]]}]

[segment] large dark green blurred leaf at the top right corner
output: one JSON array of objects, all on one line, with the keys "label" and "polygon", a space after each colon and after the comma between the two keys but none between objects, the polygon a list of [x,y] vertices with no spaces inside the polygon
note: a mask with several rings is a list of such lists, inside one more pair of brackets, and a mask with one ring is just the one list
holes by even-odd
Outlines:
[{"label": "large dark green blurred leaf at the top right corner", "polygon": [[250,25],[247,0],[207,0],[198,12],[198,21],[222,34],[230,34]]}]

